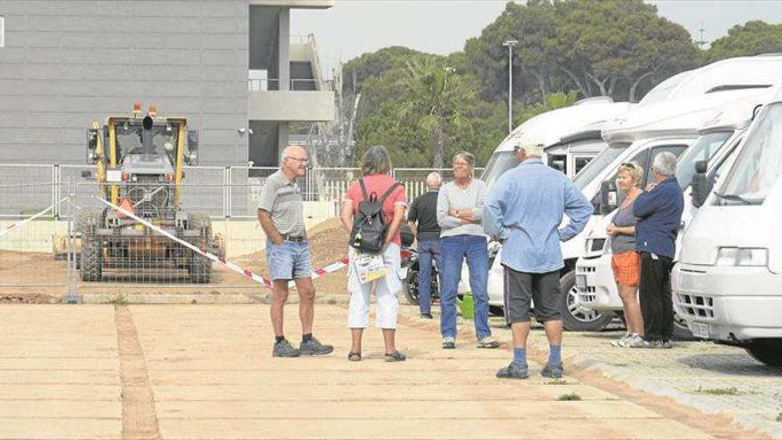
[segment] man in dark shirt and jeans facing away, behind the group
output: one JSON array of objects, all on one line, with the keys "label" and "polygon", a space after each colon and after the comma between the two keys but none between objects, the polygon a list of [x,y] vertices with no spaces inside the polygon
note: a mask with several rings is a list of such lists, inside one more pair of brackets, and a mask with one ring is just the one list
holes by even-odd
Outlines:
[{"label": "man in dark shirt and jeans facing away, behind the group", "polygon": [[[427,192],[412,203],[407,220],[419,241],[419,310],[421,317],[432,319],[432,259],[440,270],[440,225],[437,223],[437,191],[443,184],[439,172],[427,176]],[[416,224],[418,223],[418,224]]]}]

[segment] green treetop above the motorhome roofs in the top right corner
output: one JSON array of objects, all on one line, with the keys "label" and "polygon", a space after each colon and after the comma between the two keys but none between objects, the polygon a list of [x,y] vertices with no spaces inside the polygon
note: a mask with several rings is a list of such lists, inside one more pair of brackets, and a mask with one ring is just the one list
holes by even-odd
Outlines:
[{"label": "green treetop above the motorhome roofs in the top right corner", "polygon": [[782,24],[753,20],[730,28],[727,36],[714,40],[704,58],[710,63],[768,52],[782,52]]}]

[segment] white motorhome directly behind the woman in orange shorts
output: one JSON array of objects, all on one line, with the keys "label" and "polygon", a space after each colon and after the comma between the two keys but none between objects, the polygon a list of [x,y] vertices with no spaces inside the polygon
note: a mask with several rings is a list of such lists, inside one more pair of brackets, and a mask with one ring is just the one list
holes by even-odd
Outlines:
[{"label": "white motorhome directly behind the woman in orange shorts", "polygon": [[[746,128],[752,121],[754,108],[768,100],[769,95],[769,89],[765,89],[759,94],[730,101],[714,116],[708,118],[698,130],[698,139],[679,157],[676,178],[684,191],[682,228],[690,222],[697,210],[697,207],[690,203],[691,183],[696,164],[703,162],[710,178],[716,178],[715,176],[724,171],[730,165],[730,158],[744,138]],[[647,163],[641,164],[645,173],[644,180],[650,180],[650,165],[653,159],[654,156],[650,155]],[[608,198],[608,196],[601,198]],[[612,210],[596,224],[586,239],[586,254],[576,263],[578,304],[603,314],[622,312],[622,301],[611,269],[610,237],[605,232],[614,212],[616,210]],[[681,236],[678,242],[681,242]],[[677,243],[677,252],[679,250],[681,244]],[[674,336],[677,338],[691,336],[686,324],[678,316],[674,320]]]}]

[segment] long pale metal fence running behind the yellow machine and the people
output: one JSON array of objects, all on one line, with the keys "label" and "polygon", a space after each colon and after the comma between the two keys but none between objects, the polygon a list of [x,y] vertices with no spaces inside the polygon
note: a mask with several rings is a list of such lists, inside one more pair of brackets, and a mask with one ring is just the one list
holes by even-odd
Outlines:
[{"label": "long pale metal fence running behind the yellow machine and the people", "polygon": [[[235,218],[255,219],[257,215],[260,188],[266,178],[277,167],[248,166],[192,166],[184,168],[181,188],[183,204],[194,212],[205,212],[213,219]],[[26,215],[60,200],[65,196],[69,181],[77,184],[95,182],[97,167],[84,165],[46,165],[46,164],[0,164],[0,185],[7,188],[0,195],[0,219]],[[403,183],[407,197],[413,200],[426,192],[426,178],[429,172],[440,172],[443,180],[452,179],[451,169],[435,168],[396,168],[392,174]],[[475,169],[480,175],[481,169]],[[315,167],[307,170],[307,175],[297,180],[305,201],[320,212],[326,210],[339,213],[339,204],[347,188],[355,179],[361,177],[358,168]],[[19,191],[10,186],[27,184]],[[196,188],[197,187],[197,188]],[[81,208],[99,209],[100,204],[92,197],[79,201]],[[61,206],[54,208],[54,216],[60,216]],[[315,213],[320,215],[319,213]],[[315,215],[313,214],[313,215]]]}]

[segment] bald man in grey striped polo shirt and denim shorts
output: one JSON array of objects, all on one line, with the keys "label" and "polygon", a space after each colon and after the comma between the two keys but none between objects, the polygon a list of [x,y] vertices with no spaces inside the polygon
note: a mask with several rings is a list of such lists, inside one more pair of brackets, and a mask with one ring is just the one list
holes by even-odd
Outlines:
[{"label": "bald man in grey striped polo shirt and denim shorts", "polygon": [[[298,146],[283,150],[283,166],[267,177],[260,190],[258,220],[266,233],[266,260],[272,280],[270,315],[275,330],[272,356],[328,355],[334,349],[312,336],[315,285],[304,229],[304,204],[296,180],[307,173],[307,151]],[[299,292],[301,344],[293,347],[283,335],[283,308],[291,279]]]}]

